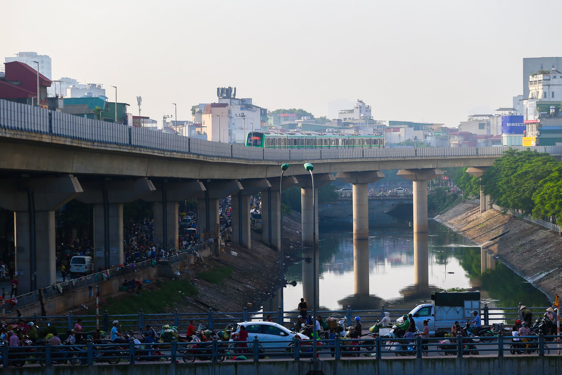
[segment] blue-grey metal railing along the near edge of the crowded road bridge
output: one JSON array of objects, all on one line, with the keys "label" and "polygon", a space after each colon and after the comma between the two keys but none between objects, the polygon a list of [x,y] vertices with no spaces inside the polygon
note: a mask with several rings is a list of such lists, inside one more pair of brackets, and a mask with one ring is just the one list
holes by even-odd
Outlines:
[{"label": "blue-grey metal railing along the near edge of the crowded road bridge", "polygon": [[[509,332],[505,332],[509,335]],[[370,337],[346,338],[339,335],[333,340],[318,340],[317,358],[345,360],[354,357],[368,357],[373,360],[381,358],[395,358],[398,356],[412,356],[423,360],[432,360],[440,356],[452,355],[457,358],[474,355],[537,355],[555,354],[561,336],[520,336],[519,341],[513,337],[498,332],[495,337],[456,336],[451,338],[387,338]],[[221,341],[216,338],[211,341],[178,342],[174,337],[171,342],[157,342],[135,344],[129,342],[103,341],[94,343],[87,340],[82,345],[51,345],[49,343],[31,343],[26,346],[0,347],[3,368],[11,366],[70,364],[135,364],[143,361],[165,361],[169,363],[195,362],[223,362],[237,356],[245,356],[253,362],[267,361],[275,358],[301,360],[312,358],[312,341],[279,336],[278,340],[260,341],[257,335],[247,341]],[[182,338],[180,337],[180,340]],[[487,342],[483,342],[486,340]],[[194,345],[197,344],[197,347]]]}]

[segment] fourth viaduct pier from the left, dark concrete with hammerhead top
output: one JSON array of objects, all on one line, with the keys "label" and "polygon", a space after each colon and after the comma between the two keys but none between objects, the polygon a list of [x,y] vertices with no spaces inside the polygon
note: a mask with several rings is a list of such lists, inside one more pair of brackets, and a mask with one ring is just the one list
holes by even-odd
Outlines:
[{"label": "fourth viaduct pier from the left, dark concrete with hammerhead top", "polygon": [[238,180],[214,180],[203,182],[205,191],[197,193],[197,230],[202,240],[218,238],[220,231],[219,199],[242,190]]}]

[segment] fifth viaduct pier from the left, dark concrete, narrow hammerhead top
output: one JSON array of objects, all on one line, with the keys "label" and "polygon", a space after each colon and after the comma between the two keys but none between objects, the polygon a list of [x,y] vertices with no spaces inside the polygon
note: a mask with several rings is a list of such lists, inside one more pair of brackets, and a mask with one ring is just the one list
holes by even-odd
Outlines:
[{"label": "fifth viaduct pier from the left, dark concrete, narrow hammerhead top", "polygon": [[[251,249],[250,196],[271,187],[266,179],[243,180],[243,190],[232,195],[232,241]],[[262,216],[263,220],[263,216]]]}]

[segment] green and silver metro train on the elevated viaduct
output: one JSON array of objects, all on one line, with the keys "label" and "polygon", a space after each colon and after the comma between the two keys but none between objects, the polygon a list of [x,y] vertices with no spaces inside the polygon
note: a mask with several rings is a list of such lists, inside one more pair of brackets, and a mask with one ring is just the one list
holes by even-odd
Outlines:
[{"label": "green and silver metro train on the elevated viaduct", "polygon": [[250,132],[246,146],[261,148],[384,147],[378,133]]}]

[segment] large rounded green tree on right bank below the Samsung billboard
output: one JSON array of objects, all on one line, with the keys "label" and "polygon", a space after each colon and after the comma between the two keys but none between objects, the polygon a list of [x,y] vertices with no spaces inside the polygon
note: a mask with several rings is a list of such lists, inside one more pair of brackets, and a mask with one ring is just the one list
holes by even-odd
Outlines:
[{"label": "large rounded green tree on right bank below the Samsung billboard", "polygon": [[533,194],[558,162],[549,153],[509,150],[482,175],[482,190],[492,202],[531,214]]}]

